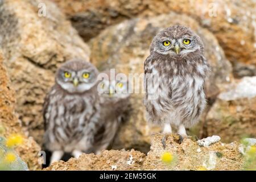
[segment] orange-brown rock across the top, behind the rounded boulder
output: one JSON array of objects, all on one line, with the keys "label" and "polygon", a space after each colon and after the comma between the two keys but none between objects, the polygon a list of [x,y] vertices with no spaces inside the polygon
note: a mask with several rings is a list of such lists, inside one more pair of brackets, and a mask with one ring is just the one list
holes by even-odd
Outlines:
[{"label": "orange-brown rock across the top, behind the rounded boulder", "polygon": [[[85,40],[124,19],[175,11],[195,18],[212,31],[233,63],[256,64],[255,1],[52,1],[63,9]],[[182,22],[179,18],[174,19]]]}]

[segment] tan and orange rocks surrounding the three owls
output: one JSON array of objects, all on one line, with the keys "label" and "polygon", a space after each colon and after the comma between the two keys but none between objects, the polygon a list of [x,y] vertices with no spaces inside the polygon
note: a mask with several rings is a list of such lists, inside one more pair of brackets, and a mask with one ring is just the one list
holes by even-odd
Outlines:
[{"label": "tan and orange rocks surrounding the three owls", "polygon": [[[28,167],[40,169],[43,99],[60,64],[82,57],[100,71],[115,67],[126,74],[143,73],[152,37],[179,23],[203,39],[212,67],[207,83],[214,85],[207,94],[215,102],[189,134],[219,135],[229,144],[219,141],[200,147],[191,139],[180,144],[169,136],[164,148],[159,127],[148,125],[144,117],[143,94],[133,94],[114,150],[84,154],[47,170],[242,169],[244,152],[239,142],[256,138],[256,3],[96,1],[0,1],[0,125],[5,137],[24,136],[26,142],[16,150]],[[38,15],[42,2],[47,7],[45,17]],[[209,5],[218,6],[212,16]],[[175,156],[171,166],[160,161],[164,151]]]}]

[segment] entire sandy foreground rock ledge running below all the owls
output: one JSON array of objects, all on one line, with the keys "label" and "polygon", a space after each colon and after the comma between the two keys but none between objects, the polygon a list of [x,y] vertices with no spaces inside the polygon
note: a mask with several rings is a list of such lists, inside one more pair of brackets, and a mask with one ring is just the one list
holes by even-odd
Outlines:
[{"label": "entire sandy foreground rock ledge running below all the owls", "polygon": [[[138,151],[110,150],[101,155],[82,154],[79,159],[68,162],[55,162],[49,170],[241,170],[245,158],[238,148],[240,143],[217,142],[209,147],[200,147],[191,139],[185,138],[179,144],[175,137],[168,135],[166,148],[163,147],[163,134],[153,134],[151,149],[147,155]],[[163,154],[168,154],[165,163]]]}]

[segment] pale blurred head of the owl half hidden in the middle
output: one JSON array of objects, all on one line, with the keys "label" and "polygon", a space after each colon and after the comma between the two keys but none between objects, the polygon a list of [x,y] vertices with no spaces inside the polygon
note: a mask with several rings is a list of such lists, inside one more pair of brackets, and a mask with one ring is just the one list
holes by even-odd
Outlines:
[{"label": "pale blurred head of the owl half hidden in the middle", "polygon": [[103,97],[127,98],[130,96],[129,81],[122,73],[112,76],[109,71],[100,73],[98,92]]}]

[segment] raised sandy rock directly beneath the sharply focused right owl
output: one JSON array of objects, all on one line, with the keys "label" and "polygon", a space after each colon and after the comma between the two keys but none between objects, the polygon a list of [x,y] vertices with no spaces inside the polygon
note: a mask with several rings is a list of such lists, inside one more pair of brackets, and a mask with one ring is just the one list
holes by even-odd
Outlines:
[{"label": "raised sandy rock directly beneath the sharply focused right owl", "polygon": [[[241,170],[243,157],[238,148],[239,143],[214,143],[209,147],[200,147],[191,139],[184,139],[179,144],[175,138],[168,137],[166,148],[163,148],[164,135],[155,134],[152,137],[151,150],[148,152],[143,168],[146,170]],[[160,159],[164,152],[174,156],[171,164],[167,165]]]}]

